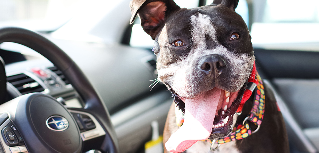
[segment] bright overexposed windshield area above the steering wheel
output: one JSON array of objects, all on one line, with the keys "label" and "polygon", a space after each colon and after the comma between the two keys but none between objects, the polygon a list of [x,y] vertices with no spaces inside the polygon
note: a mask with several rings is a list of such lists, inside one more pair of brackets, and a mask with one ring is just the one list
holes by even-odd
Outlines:
[{"label": "bright overexposed windshield area above the steering wheel", "polygon": [[0,0],[0,26],[54,31],[87,3],[83,0]]}]

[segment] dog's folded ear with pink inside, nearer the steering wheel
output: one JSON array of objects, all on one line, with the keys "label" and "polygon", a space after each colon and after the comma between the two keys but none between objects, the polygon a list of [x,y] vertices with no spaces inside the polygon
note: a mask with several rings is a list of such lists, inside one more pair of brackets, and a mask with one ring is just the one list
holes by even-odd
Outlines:
[{"label": "dog's folded ear with pink inside, nearer the steering wheel", "polygon": [[137,14],[141,19],[144,31],[155,39],[159,27],[164,24],[170,13],[181,9],[173,0],[133,0],[130,2],[132,17],[130,24]]}]

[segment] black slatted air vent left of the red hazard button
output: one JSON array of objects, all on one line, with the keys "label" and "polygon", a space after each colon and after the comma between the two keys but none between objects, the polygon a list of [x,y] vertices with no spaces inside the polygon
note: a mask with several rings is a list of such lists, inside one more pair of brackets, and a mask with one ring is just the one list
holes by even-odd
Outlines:
[{"label": "black slatted air vent left of the red hazard button", "polygon": [[16,87],[22,95],[44,91],[44,88],[38,82],[24,73],[8,76],[7,81]]}]

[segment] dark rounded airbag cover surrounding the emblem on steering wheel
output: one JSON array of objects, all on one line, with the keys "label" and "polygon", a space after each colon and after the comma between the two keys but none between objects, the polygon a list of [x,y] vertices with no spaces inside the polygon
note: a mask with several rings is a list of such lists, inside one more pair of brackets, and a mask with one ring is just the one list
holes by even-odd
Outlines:
[{"label": "dark rounded airbag cover surrounding the emblem on steering wheel", "polygon": [[[29,129],[29,127],[23,127],[23,124],[21,124],[25,122],[24,126],[30,126],[34,133],[34,136],[31,132],[29,132],[29,134],[25,133],[26,135],[29,135],[23,137],[26,143],[32,144],[41,142],[45,146],[46,150],[50,152],[75,153],[81,150],[82,140],[79,135],[79,129],[70,113],[62,104],[52,97],[44,94],[33,94],[28,97],[25,108],[22,103],[24,103],[24,100],[21,99],[17,107],[17,111],[19,111],[19,118],[17,118],[18,116],[15,117],[16,121],[21,122],[17,122],[17,126],[23,128],[20,129],[22,132],[21,134],[23,134],[26,132],[24,129]],[[26,120],[28,123],[21,119],[21,114],[24,113],[26,113]],[[63,131],[54,131],[49,129],[46,122],[49,117],[54,115],[62,116],[67,119],[69,124],[68,128]],[[36,137],[38,141],[33,141],[34,139],[30,140],[32,137]]]}]

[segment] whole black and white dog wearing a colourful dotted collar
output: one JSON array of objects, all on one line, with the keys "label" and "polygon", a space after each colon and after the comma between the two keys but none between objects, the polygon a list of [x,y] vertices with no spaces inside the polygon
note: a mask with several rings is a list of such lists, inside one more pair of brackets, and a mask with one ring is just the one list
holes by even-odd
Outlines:
[{"label": "whole black and white dog wearing a colourful dotted collar", "polygon": [[138,15],[155,40],[158,80],[174,97],[163,134],[165,152],[289,152],[283,117],[255,70],[237,4],[214,0],[186,9],[173,0],[130,2],[130,23]]}]

